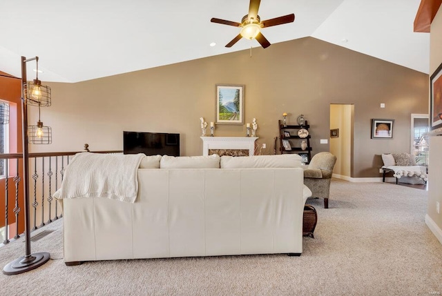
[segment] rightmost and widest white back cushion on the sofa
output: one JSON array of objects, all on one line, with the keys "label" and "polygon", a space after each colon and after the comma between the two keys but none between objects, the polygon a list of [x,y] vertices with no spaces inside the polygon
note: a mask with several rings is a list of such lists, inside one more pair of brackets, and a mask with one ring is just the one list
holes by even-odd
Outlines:
[{"label": "rightmost and widest white back cushion on the sofa", "polygon": [[301,159],[297,154],[244,157],[223,155],[220,164],[221,168],[300,168]]}]

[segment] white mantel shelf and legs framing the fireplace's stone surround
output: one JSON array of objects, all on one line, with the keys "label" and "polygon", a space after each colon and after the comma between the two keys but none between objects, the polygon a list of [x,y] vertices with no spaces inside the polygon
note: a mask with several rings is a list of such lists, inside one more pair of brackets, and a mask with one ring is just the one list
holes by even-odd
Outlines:
[{"label": "white mantel shelf and legs framing the fireplace's stone surround", "polygon": [[202,155],[209,155],[210,149],[248,149],[249,156],[255,152],[258,137],[201,137]]}]

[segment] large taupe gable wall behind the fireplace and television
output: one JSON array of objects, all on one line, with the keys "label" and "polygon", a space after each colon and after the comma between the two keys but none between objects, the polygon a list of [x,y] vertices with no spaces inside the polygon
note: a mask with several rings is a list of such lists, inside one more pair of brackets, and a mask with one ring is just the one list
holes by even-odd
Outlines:
[{"label": "large taupe gable wall behind the fireplace and television", "polygon": [[[110,61],[111,63],[112,61]],[[87,71],[87,69],[84,69]],[[313,153],[328,151],[329,104],[354,104],[352,177],[380,177],[381,153],[407,152],[410,114],[428,110],[428,76],[311,37],[79,83],[50,83],[51,146],[32,151],[122,149],[122,131],[180,132],[182,155],[201,155],[200,117],[215,119],[215,84],[245,85],[245,122],[256,117],[258,142],[273,154],[278,119],[301,113]],[[385,103],[386,108],[379,108]],[[31,110],[36,121],[35,110]],[[370,139],[371,119],[395,119],[394,139]],[[31,121],[31,122],[32,122]],[[216,136],[244,136],[217,126]]]}]

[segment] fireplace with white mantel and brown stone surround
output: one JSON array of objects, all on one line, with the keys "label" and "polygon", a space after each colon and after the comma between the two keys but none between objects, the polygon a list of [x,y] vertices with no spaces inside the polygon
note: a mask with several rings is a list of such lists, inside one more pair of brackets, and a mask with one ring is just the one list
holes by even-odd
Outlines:
[{"label": "fireplace with white mantel and brown stone surround", "polygon": [[234,156],[251,156],[258,137],[201,137],[202,155],[213,153]]}]

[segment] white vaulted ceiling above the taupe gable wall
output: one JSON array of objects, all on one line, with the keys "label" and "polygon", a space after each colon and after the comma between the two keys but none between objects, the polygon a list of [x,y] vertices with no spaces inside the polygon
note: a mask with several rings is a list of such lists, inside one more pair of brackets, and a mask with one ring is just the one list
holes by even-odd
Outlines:
[{"label": "white vaulted ceiling above the taupe gable wall", "polygon": [[[311,36],[428,73],[430,34],[413,32],[419,3],[262,0],[258,14],[295,14],[262,30],[270,43]],[[248,10],[248,0],[0,0],[0,70],[21,77],[20,57],[39,56],[39,79],[77,82],[258,47],[225,48],[240,29],[210,22],[240,22]],[[27,68],[32,79],[35,62]]]}]

